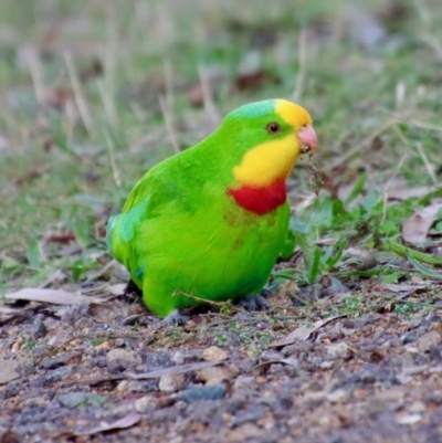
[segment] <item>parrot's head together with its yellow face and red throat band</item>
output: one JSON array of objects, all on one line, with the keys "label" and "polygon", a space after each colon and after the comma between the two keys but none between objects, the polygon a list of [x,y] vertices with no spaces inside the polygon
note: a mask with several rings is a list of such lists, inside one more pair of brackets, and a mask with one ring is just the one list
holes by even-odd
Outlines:
[{"label": "parrot's head together with its yellow face and red throat band", "polygon": [[285,180],[296,160],[316,150],[312,117],[284,99],[241,106],[225,116],[222,130],[234,162],[228,193],[256,214],[271,212],[286,201]]}]

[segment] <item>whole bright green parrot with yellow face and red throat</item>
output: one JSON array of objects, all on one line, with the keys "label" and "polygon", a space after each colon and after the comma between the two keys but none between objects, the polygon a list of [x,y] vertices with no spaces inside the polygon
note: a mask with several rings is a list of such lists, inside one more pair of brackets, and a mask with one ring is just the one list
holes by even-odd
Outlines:
[{"label": "whole bright green parrot with yellow face and red throat", "polygon": [[169,324],[201,300],[265,308],[257,294],[288,234],[285,181],[316,143],[303,107],[267,99],[232,110],[145,173],[110,217],[106,241],[146,306]]}]

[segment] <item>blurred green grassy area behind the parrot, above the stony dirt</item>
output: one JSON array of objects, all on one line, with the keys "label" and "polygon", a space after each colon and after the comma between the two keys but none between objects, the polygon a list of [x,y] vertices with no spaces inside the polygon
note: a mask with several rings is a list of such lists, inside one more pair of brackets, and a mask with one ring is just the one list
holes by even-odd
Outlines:
[{"label": "blurred green grassy area behind the parrot, above the stony dirt", "polygon": [[[136,180],[270,97],[315,120],[324,190],[291,181],[312,236],[397,238],[441,181],[440,1],[2,0],[2,288],[99,270]],[[387,209],[387,188],[413,192]]]}]

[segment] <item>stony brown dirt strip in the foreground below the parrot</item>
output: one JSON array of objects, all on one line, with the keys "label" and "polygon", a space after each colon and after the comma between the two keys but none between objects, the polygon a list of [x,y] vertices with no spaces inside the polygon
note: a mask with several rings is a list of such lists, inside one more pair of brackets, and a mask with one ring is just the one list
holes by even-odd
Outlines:
[{"label": "stony brown dirt strip in the foreground below the parrot", "polygon": [[440,307],[312,321],[269,303],[183,327],[115,296],[15,306],[0,442],[442,442]]}]

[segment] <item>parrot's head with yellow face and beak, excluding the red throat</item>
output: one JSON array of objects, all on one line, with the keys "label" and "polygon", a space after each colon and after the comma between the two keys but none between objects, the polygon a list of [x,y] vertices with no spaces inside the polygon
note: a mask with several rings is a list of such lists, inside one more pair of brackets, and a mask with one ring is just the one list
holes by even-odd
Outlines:
[{"label": "parrot's head with yellow face and beak, excluding the red throat", "polygon": [[233,169],[241,184],[267,187],[287,178],[302,154],[316,150],[312,117],[299,105],[269,99],[239,107],[228,114],[223,127],[240,155]]}]

